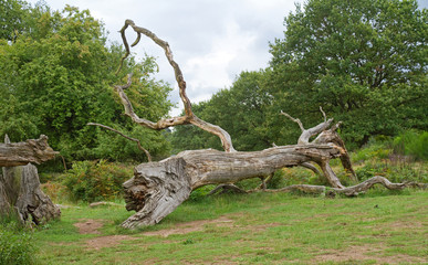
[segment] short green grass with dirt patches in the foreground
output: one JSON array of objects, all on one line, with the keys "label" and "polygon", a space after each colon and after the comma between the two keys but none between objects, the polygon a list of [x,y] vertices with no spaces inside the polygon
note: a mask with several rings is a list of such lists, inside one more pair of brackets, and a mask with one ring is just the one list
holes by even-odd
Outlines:
[{"label": "short green grass with dirt patches in the foreground", "polygon": [[[382,190],[382,189],[380,189]],[[427,264],[428,192],[188,201],[139,231],[121,205],[65,208],[33,234],[41,264]]]}]

